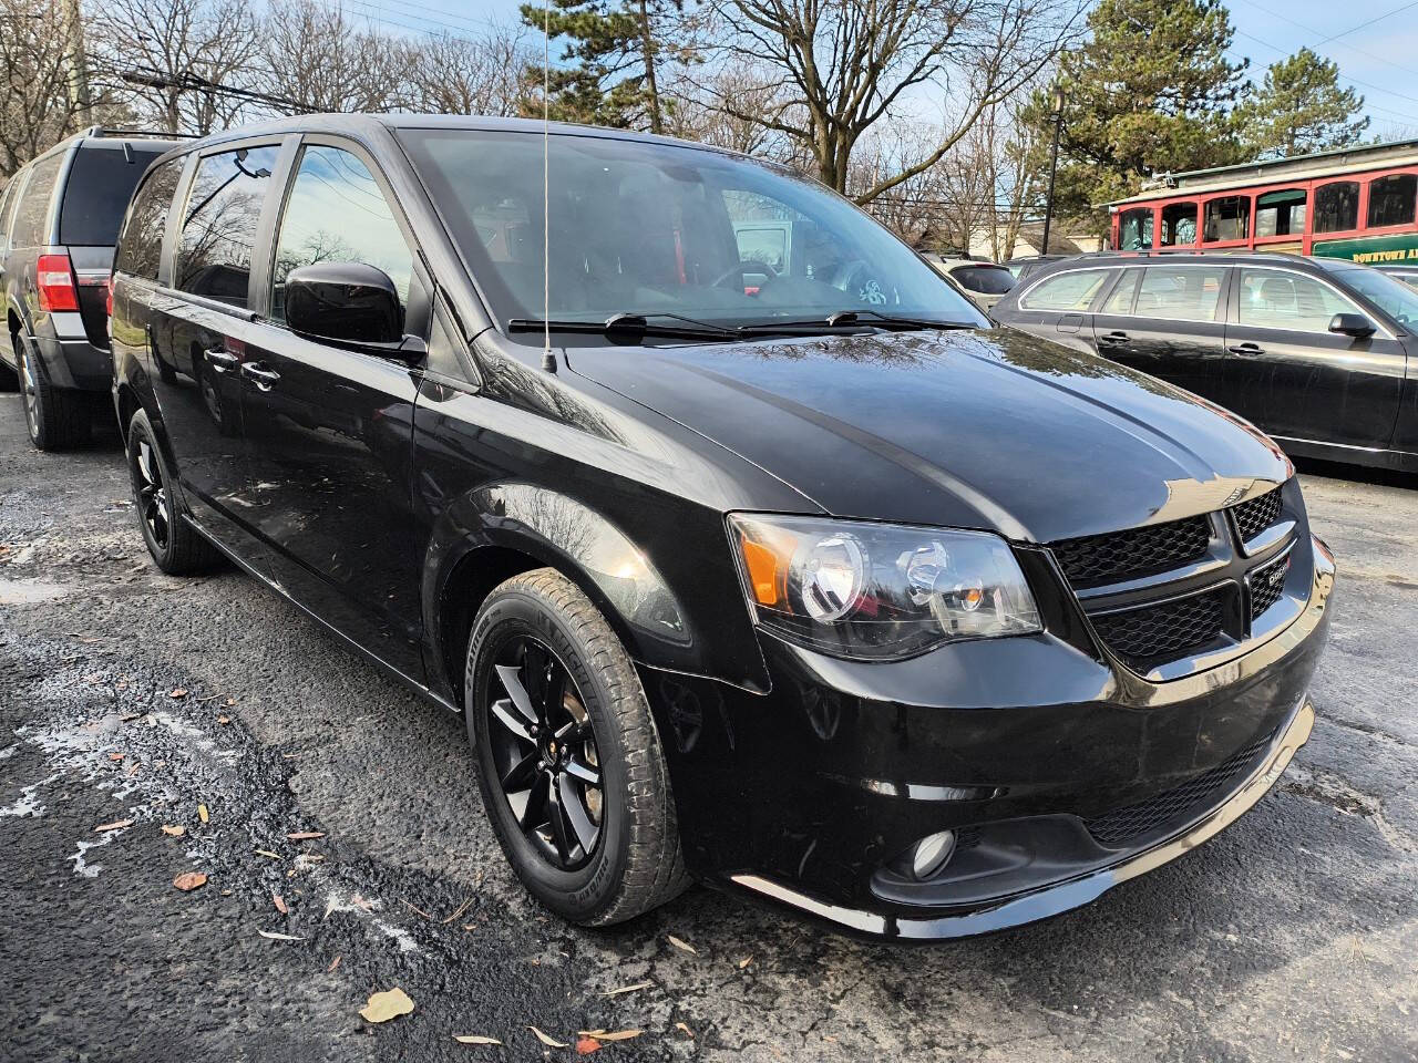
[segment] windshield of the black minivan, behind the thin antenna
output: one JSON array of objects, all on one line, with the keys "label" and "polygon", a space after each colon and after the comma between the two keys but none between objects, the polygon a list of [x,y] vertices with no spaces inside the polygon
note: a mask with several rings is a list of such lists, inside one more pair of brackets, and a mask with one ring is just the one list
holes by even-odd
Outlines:
[{"label": "windshield of the black minivan, behind the thin antenna", "polygon": [[[543,317],[542,136],[400,139],[503,327]],[[988,327],[896,237],[813,181],[611,137],[554,135],[547,152],[552,320],[664,313],[737,327],[875,310]]]}]

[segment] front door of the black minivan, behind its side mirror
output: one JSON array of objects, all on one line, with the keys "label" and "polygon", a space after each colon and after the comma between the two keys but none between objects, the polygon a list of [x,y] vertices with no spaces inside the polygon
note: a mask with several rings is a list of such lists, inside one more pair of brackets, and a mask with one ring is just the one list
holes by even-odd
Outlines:
[{"label": "front door of the black minivan, behind its side mirror", "polygon": [[[364,262],[408,306],[414,257],[390,197],[353,152],[308,143],[275,230],[268,313],[241,359],[250,486],[241,496],[296,601],[407,676],[423,676],[410,510],[413,408],[406,361],[302,337],[284,282],[313,262]],[[417,327],[406,322],[406,329]]]}]

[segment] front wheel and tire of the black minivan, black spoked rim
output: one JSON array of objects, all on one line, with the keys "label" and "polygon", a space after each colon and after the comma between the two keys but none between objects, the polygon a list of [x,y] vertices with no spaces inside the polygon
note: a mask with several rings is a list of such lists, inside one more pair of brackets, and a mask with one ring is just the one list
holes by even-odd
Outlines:
[{"label": "front wheel and tire of the black minivan, black spoked rim", "polygon": [[[527,702],[542,703],[540,717],[536,704],[518,710],[508,673]],[[537,675],[552,675],[552,693],[539,689]],[[537,568],[495,588],[472,624],[464,682],[484,805],[537,900],[571,923],[604,927],[683,892],[689,876],[649,703],[615,632],[570,580]],[[533,737],[516,734],[508,716]],[[519,761],[535,764],[519,775]],[[587,770],[597,785],[586,782]],[[519,801],[523,778],[532,781]],[[564,853],[553,819],[563,806]]]}]

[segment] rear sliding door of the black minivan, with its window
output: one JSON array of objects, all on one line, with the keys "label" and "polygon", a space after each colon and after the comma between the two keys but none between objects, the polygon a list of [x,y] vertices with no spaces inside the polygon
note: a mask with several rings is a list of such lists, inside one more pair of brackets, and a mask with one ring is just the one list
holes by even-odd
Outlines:
[{"label": "rear sliding door of the black minivan, with its window", "polygon": [[147,344],[153,391],[193,516],[214,539],[261,570],[241,505],[242,333],[250,330],[251,248],[277,169],[278,145],[197,160],[177,204],[172,283],[153,296]]}]

